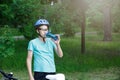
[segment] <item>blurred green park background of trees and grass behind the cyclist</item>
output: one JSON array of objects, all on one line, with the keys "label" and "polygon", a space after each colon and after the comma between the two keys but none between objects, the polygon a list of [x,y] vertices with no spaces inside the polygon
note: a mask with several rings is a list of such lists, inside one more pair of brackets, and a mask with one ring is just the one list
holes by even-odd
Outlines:
[{"label": "blurred green park background of trees and grass behind the cyclist", "polygon": [[66,80],[119,80],[119,9],[119,0],[0,0],[0,69],[28,80],[27,45],[45,18],[61,34],[64,57],[55,61]]}]

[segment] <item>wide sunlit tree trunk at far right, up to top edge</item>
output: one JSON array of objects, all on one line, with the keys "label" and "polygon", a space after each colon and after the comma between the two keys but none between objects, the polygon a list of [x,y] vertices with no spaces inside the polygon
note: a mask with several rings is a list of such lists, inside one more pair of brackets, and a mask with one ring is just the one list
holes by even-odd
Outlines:
[{"label": "wide sunlit tree trunk at far right, up to top edge", "polygon": [[109,1],[101,1],[101,7],[103,12],[103,29],[104,29],[104,41],[112,40],[112,18],[111,18],[111,8],[112,8],[112,0]]}]

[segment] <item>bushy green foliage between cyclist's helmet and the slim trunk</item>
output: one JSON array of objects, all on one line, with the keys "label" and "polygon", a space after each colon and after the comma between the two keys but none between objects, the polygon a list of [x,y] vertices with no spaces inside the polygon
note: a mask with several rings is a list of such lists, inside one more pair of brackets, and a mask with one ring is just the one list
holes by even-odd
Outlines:
[{"label": "bushy green foliage between cyclist's helmet and the slim trunk", "polygon": [[75,12],[70,12],[68,5],[46,5],[45,9],[45,18],[50,21],[53,33],[64,33],[66,37],[75,35],[76,30],[78,31],[78,27],[80,27],[80,19]]}]

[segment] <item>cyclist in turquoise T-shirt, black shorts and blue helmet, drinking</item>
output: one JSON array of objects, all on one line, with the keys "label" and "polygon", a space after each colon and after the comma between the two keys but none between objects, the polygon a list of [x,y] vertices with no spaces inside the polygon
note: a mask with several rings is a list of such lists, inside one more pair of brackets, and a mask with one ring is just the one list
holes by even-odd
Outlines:
[{"label": "cyclist in turquoise T-shirt, black shorts and blue helmet, drinking", "polygon": [[[29,80],[48,80],[46,75],[56,73],[54,51],[59,57],[63,57],[60,36],[57,35],[58,40],[46,37],[46,33],[49,31],[49,22],[46,19],[37,20],[34,26],[38,37],[30,40],[28,44],[26,64]],[[34,59],[34,76],[32,75],[32,59]]]}]

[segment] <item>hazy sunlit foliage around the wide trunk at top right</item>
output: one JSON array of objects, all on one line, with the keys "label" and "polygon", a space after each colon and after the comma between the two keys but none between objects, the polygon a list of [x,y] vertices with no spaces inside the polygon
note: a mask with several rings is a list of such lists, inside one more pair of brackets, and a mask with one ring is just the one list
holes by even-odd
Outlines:
[{"label": "hazy sunlit foliage around the wide trunk at top right", "polygon": [[[87,18],[89,23],[86,29],[92,28],[96,32],[103,33],[103,9],[105,9],[106,4],[111,8],[111,23],[113,32],[119,32],[119,0],[86,0],[89,3],[89,9],[87,11]],[[103,2],[102,2],[103,1]]]}]

